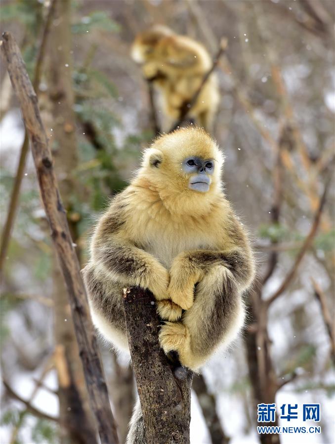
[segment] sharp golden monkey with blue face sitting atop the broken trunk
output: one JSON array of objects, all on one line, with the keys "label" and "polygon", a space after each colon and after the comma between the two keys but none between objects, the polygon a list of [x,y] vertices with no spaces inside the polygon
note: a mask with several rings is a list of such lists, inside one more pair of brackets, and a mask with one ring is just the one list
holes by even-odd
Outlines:
[{"label": "sharp golden monkey with blue face sitting atop the broken trunk", "polygon": [[[192,370],[241,329],[253,258],[221,190],[222,163],[200,128],[163,135],[99,220],[84,280],[93,322],[117,348],[128,351],[122,290],[130,285],[152,291],[167,320],[161,346]],[[142,443],[143,433],[137,403],[127,443]]]}]

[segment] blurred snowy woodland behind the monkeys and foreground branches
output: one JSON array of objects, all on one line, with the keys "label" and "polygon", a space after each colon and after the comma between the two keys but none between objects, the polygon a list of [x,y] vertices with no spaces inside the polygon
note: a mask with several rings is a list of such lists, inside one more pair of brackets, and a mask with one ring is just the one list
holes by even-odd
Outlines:
[{"label": "blurred snowy woodland behind the monkeys and foreground branches", "polygon": [[[335,443],[334,15],[323,0],[1,1],[1,32],[13,33],[36,86],[82,266],[94,221],[154,136],[134,37],[165,24],[212,56],[228,39],[213,135],[258,278],[242,337],[195,377],[192,444],[275,443],[256,431],[257,403],[273,402],[278,413],[321,404],[320,435],[281,443]],[[0,441],[93,443],[67,294],[3,59],[0,73]],[[100,349],[124,442],[132,371]],[[306,425],[293,422],[284,425]]]}]

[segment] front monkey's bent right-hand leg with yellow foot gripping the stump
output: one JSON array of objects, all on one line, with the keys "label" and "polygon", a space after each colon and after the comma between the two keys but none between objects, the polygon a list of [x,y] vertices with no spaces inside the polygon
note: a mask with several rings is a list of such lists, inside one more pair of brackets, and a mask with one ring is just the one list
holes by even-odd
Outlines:
[{"label": "front monkey's bent right-hand leg with yellow foot gripping the stump", "polygon": [[214,266],[198,284],[182,322],[162,326],[160,343],[166,353],[177,351],[184,366],[197,370],[215,349],[236,337],[243,320],[243,302],[231,273]]}]

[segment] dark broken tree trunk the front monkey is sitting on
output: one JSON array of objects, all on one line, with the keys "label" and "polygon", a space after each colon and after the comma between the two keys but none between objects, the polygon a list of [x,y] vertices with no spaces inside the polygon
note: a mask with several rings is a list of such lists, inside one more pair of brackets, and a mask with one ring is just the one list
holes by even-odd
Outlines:
[{"label": "dark broken tree trunk the front monkey is sitting on", "polygon": [[138,442],[189,444],[192,372],[172,355],[169,362],[160,348],[159,318],[152,293],[138,287],[125,289],[124,310],[143,415],[137,427],[143,437]]}]

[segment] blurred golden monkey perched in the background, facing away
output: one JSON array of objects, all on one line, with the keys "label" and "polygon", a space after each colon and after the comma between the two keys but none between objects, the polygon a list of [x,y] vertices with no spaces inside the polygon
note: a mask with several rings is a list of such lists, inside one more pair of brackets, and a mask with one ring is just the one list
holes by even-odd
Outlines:
[{"label": "blurred golden monkey perched in the background, facing away", "polygon": [[[178,120],[183,105],[191,100],[209,71],[212,61],[205,46],[186,36],[156,25],[138,34],[131,48],[135,62],[142,64],[147,80],[155,82],[161,92],[165,129]],[[219,103],[217,78],[212,74],[189,113],[209,133]]]}]

